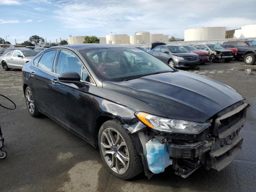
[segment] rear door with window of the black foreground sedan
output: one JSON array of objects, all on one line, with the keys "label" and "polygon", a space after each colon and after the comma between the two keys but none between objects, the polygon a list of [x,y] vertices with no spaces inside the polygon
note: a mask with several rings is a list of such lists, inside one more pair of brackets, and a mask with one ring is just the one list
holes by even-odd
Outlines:
[{"label": "rear door with window of the black foreground sedan", "polygon": [[50,50],[33,61],[30,71],[30,86],[38,107],[53,116],[50,84],[53,78],[53,63],[58,50]]}]

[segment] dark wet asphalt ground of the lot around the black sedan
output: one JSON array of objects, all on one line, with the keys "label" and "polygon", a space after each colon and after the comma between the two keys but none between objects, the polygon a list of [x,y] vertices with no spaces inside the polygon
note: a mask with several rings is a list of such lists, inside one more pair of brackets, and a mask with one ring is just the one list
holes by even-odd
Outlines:
[{"label": "dark wet asphalt ground of the lot around the black sedan", "polygon": [[216,62],[190,72],[227,84],[248,100],[251,106],[240,132],[244,137],[242,153],[220,172],[199,168],[184,179],[166,168],[150,180],[142,173],[124,181],[110,174],[98,150],[90,144],[50,118],[30,116],[22,90],[22,72],[0,68],[0,94],[17,105],[16,110],[0,108],[4,150],[8,152],[8,157],[0,161],[0,191],[255,191],[256,65]]}]

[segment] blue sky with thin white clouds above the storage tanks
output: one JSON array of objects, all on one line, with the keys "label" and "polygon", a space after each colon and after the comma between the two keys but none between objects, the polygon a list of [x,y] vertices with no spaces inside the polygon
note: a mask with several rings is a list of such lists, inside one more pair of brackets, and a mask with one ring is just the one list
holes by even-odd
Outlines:
[{"label": "blue sky with thin white clouds above the storage tanks", "polygon": [[0,0],[0,37],[56,38],[138,31],[184,37],[188,28],[256,24],[256,0]]}]

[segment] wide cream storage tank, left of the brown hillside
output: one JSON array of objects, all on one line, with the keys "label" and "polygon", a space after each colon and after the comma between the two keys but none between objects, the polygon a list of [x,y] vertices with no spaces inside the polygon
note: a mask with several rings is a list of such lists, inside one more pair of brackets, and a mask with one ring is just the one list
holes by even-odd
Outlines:
[{"label": "wide cream storage tank, left of the brown hillside", "polygon": [[226,38],[226,27],[202,27],[186,29],[184,41],[215,40]]}]

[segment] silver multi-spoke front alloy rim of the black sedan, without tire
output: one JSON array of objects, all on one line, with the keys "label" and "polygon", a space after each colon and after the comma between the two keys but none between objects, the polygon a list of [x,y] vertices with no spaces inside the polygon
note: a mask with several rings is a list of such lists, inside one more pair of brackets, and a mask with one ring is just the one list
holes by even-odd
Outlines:
[{"label": "silver multi-spoke front alloy rim of the black sedan, without tire", "polygon": [[108,166],[117,174],[124,174],[129,167],[129,152],[121,134],[106,128],[100,136],[100,148]]}]

